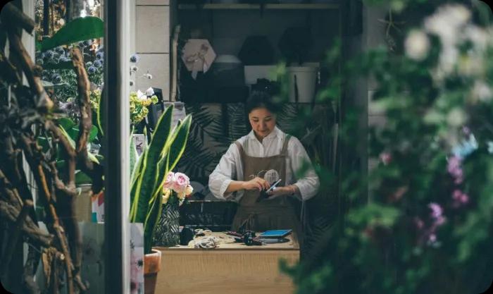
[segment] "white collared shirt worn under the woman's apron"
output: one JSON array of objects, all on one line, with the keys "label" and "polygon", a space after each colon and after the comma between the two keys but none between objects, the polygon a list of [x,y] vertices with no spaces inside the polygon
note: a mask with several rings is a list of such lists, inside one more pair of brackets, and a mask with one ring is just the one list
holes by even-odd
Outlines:
[{"label": "white collared shirt worn under the woman's apron", "polygon": [[[280,154],[284,139],[285,133],[275,127],[272,133],[263,138],[262,142],[258,141],[253,130],[248,135],[239,138],[238,142],[242,145],[246,155],[250,157],[272,157]],[[301,171],[306,163],[309,167],[304,177],[296,178],[295,174],[297,171]],[[221,200],[239,201],[243,196],[242,190],[238,191],[235,197],[232,193],[225,195],[227,186],[232,180],[243,180],[242,158],[235,143],[230,145],[227,152],[221,157],[216,169],[209,176],[209,189],[214,196]],[[308,200],[318,192],[320,185],[318,176],[313,170],[306,150],[297,137],[291,137],[287,144],[285,180],[285,185],[297,185],[301,193],[301,200]]]}]

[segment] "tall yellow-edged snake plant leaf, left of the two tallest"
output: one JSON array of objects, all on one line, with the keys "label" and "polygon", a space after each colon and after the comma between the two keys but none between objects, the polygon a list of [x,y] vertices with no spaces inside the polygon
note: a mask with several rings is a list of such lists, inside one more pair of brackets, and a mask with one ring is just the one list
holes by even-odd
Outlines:
[{"label": "tall yellow-edged snake plant leaf, left of the two tallest", "polygon": [[130,191],[130,201],[133,201],[130,211],[130,221],[132,222],[144,223],[156,183],[161,182],[161,179],[157,178],[158,161],[163,157],[163,152],[170,137],[172,118],[173,106],[168,107],[163,116],[159,118],[151,144],[149,144],[149,148],[144,154],[142,173],[139,174],[135,194],[132,194],[132,190]]}]

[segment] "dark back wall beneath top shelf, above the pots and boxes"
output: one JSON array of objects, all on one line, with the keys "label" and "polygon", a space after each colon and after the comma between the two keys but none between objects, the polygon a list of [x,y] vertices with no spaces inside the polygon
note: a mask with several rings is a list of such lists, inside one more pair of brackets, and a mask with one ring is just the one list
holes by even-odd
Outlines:
[{"label": "dark back wall beneath top shelf, above the pots and boxes", "polygon": [[339,33],[337,10],[180,10],[183,37],[204,37],[210,40],[216,54],[237,56],[246,37],[266,35],[275,51],[275,59],[282,56],[278,42],[287,27],[308,26],[312,29],[314,46],[306,61],[320,61]]}]

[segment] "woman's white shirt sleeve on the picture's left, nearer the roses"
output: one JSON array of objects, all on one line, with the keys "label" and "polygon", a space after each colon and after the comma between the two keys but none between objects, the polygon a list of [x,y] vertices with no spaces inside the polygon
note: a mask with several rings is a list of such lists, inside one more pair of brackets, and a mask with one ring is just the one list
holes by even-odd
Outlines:
[{"label": "woman's white shirt sleeve on the picture's left, nearer the roses", "polygon": [[218,166],[209,176],[209,190],[212,194],[220,199],[226,200],[232,196],[232,193],[225,195],[227,186],[232,180],[237,178],[237,166],[241,161],[238,147],[235,143],[231,144],[227,152],[221,157]]}]

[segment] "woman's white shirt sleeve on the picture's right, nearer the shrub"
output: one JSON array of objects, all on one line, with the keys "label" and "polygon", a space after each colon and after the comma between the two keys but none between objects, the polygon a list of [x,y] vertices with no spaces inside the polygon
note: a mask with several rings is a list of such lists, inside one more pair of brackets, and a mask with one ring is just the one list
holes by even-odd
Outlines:
[{"label": "woman's white shirt sleeve on the picture's right, nearer the shrub", "polygon": [[[297,185],[301,193],[301,200],[308,200],[315,196],[320,186],[317,173],[313,169],[310,157],[306,153],[305,148],[301,145],[297,137],[291,137],[287,146],[289,161],[291,162],[291,171],[293,180],[296,180],[294,185]],[[304,175],[299,176],[301,171],[305,171]]]}]

